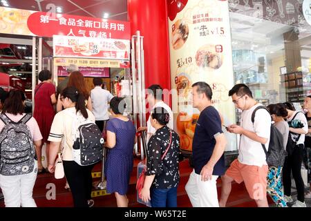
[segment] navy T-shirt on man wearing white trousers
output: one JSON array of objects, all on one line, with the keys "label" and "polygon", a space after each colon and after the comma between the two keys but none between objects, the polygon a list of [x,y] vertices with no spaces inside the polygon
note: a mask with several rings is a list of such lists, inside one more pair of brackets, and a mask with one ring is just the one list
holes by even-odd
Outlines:
[{"label": "navy T-shirt on man wearing white trousers", "polygon": [[[196,122],[194,140],[192,143],[194,171],[200,174],[202,167],[209,162],[216,144],[215,136],[223,133],[218,111],[208,106],[201,113]],[[222,155],[214,166],[213,175],[225,173],[225,156]]]}]

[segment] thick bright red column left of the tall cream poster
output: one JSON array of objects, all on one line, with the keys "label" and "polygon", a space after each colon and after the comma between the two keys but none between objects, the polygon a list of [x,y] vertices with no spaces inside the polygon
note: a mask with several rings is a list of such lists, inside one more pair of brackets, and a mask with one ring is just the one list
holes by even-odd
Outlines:
[{"label": "thick bright red column left of the tall cream poster", "polygon": [[144,37],[145,87],[160,84],[171,90],[167,1],[128,0],[128,12],[131,35],[140,30]]}]

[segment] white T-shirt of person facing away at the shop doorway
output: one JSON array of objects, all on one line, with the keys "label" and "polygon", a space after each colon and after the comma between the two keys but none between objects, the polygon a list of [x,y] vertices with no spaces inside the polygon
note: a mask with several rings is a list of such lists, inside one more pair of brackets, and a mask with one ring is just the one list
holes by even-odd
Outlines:
[{"label": "white T-shirt of person facing away at the shop doorway", "polygon": [[96,120],[107,120],[108,115],[108,102],[110,102],[113,95],[108,90],[102,89],[100,86],[95,86],[91,90],[93,114]]}]

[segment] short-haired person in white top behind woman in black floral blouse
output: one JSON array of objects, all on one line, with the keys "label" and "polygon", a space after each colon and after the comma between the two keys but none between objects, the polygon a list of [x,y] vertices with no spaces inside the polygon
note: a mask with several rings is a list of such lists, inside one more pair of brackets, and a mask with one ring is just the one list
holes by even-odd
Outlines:
[{"label": "short-haired person in white top behind woman in black floral blouse", "polygon": [[[153,84],[149,86],[147,89],[147,102],[149,103],[149,106],[152,106],[151,110],[154,108],[162,107],[164,108],[167,113],[169,113],[169,123],[167,126],[173,130],[174,122],[173,122],[173,112],[171,111],[171,108],[165,104],[162,101],[162,88],[158,84]],[[137,130],[137,132],[140,131],[147,131],[147,142],[149,141],[150,137],[156,133],[156,129],[151,126],[151,117],[149,115],[148,121],[147,121],[147,127],[146,126],[140,126]]]}]

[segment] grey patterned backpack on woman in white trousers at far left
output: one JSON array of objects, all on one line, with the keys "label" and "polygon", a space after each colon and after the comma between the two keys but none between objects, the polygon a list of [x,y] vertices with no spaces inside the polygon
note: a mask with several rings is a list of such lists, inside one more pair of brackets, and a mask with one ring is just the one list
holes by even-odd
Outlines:
[{"label": "grey patterned backpack on woman in white trousers at far left", "polygon": [[35,146],[26,125],[30,118],[25,115],[19,122],[13,122],[6,114],[0,115],[6,124],[0,133],[1,175],[22,175],[33,171]]}]

